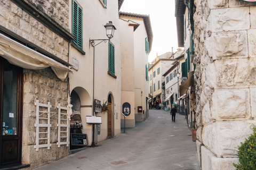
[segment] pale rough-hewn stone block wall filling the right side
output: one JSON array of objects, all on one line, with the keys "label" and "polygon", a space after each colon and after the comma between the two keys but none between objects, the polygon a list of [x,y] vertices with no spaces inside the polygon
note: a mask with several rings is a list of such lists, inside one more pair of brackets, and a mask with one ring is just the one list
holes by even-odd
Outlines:
[{"label": "pale rough-hewn stone block wall filling the right side", "polygon": [[202,169],[235,169],[256,126],[256,3],[195,0],[197,156]]}]

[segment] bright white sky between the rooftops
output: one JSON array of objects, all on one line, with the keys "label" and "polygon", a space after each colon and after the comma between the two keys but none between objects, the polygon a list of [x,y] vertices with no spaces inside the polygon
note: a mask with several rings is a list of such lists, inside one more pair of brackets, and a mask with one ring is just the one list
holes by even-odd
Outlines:
[{"label": "bright white sky between the rooftops", "polygon": [[156,58],[156,53],[175,53],[178,48],[178,37],[175,18],[174,0],[124,0],[122,12],[146,14],[150,16],[153,30],[153,45],[148,62]]}]

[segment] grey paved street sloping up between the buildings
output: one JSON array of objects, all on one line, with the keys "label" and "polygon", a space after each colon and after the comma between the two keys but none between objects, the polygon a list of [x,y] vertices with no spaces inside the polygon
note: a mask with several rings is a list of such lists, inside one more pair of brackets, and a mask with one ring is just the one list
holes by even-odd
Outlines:
[{"label": "grey paved street sloping up between the buildings", "polygon": [[37,169],[199,169],[196,143],[180,114],[173,123],[169,112],[149,110],[147,121],[98,146]]}]

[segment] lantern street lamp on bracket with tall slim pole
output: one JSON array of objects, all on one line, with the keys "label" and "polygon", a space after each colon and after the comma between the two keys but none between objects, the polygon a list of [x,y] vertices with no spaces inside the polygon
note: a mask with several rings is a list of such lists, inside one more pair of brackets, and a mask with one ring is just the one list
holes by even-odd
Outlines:
[{"label": "lantern street lamp on bracket with tall slim pole", "polygon": [[[104,41],[104,43],[107,42],[107,40],[110,41],[111,38],[113,38],[114,36],[114,32],[116,30],[116,27],[113,25],[112,21],[109,21],[108,23],[106,23],[106,25],[104,25],[105,29],[106,29],[106,35],[108,37],[108,39],[89,39],[89,43],[90,45],[93,47],[93,92],[92,92],[92,101],[94,101],[94,73],[95,73],[95,64],[94,64],[94,61],[95,61],[95,53],[94,53],[94,47],[97,46],[98,44],[102,43]],[[100,43],[96,44],[95,45],[95,41],[100,41]],[[95,113],[94,113],[94,102],[93,102],[93,111],[92,111],[92,115],[94,116]],[[95,133],[95,126],[94,124],[92,124],[92,147],[95,147],[95,142],[94,142],[94,133]]]}]

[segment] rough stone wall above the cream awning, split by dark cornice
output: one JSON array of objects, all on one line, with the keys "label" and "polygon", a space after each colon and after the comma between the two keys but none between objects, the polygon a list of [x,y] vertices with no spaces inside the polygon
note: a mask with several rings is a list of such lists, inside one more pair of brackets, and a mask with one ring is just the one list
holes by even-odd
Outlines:
[{"label": "rough stone wall above the cream awning, split by dark cornice", "polygon": [[[65,2],[61,0],[33,0],[33,2],[39,8],[44,9],[48,15],[53,11],[51,18],[55,20],[59,19],[57,22],[62,23],[61,25],[64,28],[68,28],[68,0]],[[49,10],[49,8],[52,8],[52,10]],[[63,18],[63,22],[60,18]],[[29,40],[31,43],[45,49],[47,52],[68,62],[68,42],[10,0],[0,1],[0,24]]]}]

